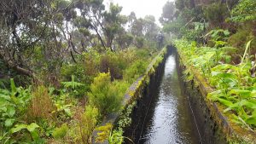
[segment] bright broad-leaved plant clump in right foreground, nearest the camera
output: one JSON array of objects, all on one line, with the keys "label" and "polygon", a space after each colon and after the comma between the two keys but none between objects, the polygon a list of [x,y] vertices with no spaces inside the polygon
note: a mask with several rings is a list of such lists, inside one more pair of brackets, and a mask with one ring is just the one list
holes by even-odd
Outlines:
[{"label": "bright broad-leaved plant clump in right foreground, nearest the camera", "polygon": [[247,62],[238,66],[226,64],[213,67],[210,82],[219,90],[212,92],[208,97],[226,106],[224,112],[235,112],[234,120],[238,118],[239,124],[245,122],[246,125],[254,127],[256,121],[253,121],[255,117],[251,113],[256,108],[253,92],[255,78],[252,78],[249,72],[251,67]]}]

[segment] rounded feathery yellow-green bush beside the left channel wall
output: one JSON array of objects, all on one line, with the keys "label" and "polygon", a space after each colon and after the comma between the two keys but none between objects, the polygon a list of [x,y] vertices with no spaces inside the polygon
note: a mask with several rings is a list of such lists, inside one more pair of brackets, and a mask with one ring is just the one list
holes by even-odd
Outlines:
[{"label": "rounded feathery yellow-green bush beside the left channel wall", "polygon": [[119,110],[122,95],[119,95],[118,87],[111,83],[109,72],[100,73],[94,78],[90,91],[90,104],[96,106],[103,115]]}]

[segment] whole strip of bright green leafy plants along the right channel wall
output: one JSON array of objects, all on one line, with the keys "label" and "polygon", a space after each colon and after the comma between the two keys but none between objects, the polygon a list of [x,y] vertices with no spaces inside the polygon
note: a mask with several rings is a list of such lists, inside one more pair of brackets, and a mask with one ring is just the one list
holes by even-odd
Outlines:
[{"label": "whole strip of bright green leafy plants along the right channel wall", "polygon": [[[256,78],[252,76],[253,65],[250,56],[247,55],[251,42],[247,43],[244,55],[241,56],[241,63],[236,66],[225,63],[227,49],[197,48],[195,44],[185,41],[175,42],[183,58],[183,64],[201,72],[209,84],[216,89],[208,94],[207,98],[224,105],[226,107],[224,112],[232,114],[232,121],[247,126],[250,130],[256,126],[254,113]],[[188,69],[186,73],[193,72]]]}]

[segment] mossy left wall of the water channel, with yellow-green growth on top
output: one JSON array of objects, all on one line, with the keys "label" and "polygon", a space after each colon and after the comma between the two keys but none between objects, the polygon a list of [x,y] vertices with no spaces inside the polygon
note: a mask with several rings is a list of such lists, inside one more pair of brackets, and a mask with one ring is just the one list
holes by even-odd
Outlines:
[{"label": "mossy left wall of the water channel, with yellow-green growth on top", "polygon": [[[159,55],[155,56],[154,60],[150,62],[148,65],[147,71],[137,78],[137,81],[131,84],[130,88],[127,89],[124,95],[124,101],[122,103],[122,110],[119,112],[111,113],[106,118],[103,119],[102,130],[94,130],[91,141],[92,143],[104,143],[108,144],[108,138],[113,136],[113,131],[118,130],[119,134],[123,134],[123,130],[125,130],[131,124],[131,114],[134,113],[134,109],[136,109],[137,101],[140,100],[143,95],[148,91],[149,82],[152,78],[159,77],[159,72],[164,65],[164,61],[166,60],[166,55],[168,55],[168,48],[163,48]],[[113,129],[108,129],[108,126],[113,125]],[[112,126],[111,126],[112,127]],[[112,135],[110,136],[110,133]],[[103,136],[102,136],[103,135]],[[108,136],[109,135],[109,136]],[[97,141],[101,139],[101,141]],[[103,141],[102,141],[103,139]],[[120,141],[124,139],[122,135],[115,136],[115,141]],[[128,138],[129,139],[129,138]],[[127,140],[127,138],[125,138]],[[121,140],[122,141],[122,140]]]}]

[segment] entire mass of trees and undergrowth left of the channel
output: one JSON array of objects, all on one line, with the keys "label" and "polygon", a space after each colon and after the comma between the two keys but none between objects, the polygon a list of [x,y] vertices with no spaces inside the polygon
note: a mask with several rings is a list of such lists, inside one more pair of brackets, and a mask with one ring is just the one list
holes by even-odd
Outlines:
[{"label": "entire mass of trees and undergrowth left of the channel", "polygon": [[[26,1],[34,7],[3,1],[0,143],[44,143],[40,137],[50,143],[62,138],[65,143],[90,143],[99,115],[119,111],[126,89],[154,56],[151,48],[160,32],[154,16],[135,18],[130,31],[122,8],[110,3],[107,10],[102,0]],[[131,44],[143,49],[129,48]],[[33,89],[25,89],[31,82]],[[87,101],[90,106],[83,113]],[[68,129],[73,126],[73,135],[80,135],[72,139]],[[120,135],[113,132],[113,141]]]}]

